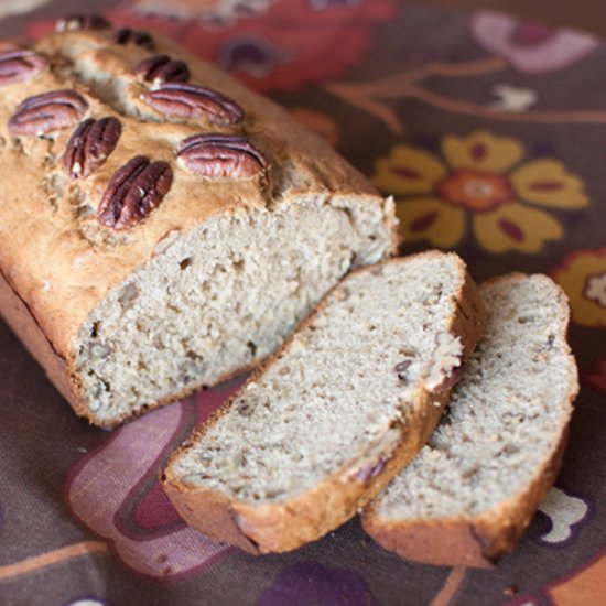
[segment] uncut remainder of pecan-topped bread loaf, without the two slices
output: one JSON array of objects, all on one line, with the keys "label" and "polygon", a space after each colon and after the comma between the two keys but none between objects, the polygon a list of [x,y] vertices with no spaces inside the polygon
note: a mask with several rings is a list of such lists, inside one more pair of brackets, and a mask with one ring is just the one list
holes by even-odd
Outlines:
[{"label": "uncut remainder of pecan-topped bread loaf, without the two slices", "polygon": [[359,173],[155,34],[61,20],[0,87],[0,307],[93,423],[250,367],[396,246]]}]

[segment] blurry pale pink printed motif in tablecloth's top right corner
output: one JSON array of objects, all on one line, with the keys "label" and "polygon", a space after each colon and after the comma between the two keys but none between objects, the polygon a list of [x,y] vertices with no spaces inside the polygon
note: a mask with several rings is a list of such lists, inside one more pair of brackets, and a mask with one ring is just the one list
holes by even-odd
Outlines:
[{"label": "blurry pale pink printed motif in tablecloth's top right corner", "polygon": [[599,39],[594,35],[519,21],[493,11],[474,13],[469,26],[480,46],[506,58],[520,72],[561,69],[599,46]]}]

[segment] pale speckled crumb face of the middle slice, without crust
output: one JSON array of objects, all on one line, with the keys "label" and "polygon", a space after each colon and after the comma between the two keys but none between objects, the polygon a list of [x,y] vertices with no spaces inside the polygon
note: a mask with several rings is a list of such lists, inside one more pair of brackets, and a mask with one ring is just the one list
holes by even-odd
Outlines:
[{"label": "pale speckled crumb face of the middle slice, without crust", "polygon": [[263,505],[379,473],[425,381],[461,364],[451,323],[464,280],[443,253],[350,274],[167,475]]}]

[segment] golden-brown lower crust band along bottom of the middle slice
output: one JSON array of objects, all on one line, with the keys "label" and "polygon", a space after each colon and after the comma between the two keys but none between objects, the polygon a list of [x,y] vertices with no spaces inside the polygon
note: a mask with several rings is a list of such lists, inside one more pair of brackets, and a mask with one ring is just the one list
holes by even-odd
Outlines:
[{"label": "golden-brown lower crust band along bottom of the middle slice", "polygon": [[[426,403],[420,408],[425,413],[402,425],[402,437],[392,457],[378,476],[367,481],[344,480],[342,469],[312,490],[283,504],[264,506],[250,506],[214,490],[192,493],[169,468],[162,476],[163,488],[188,526],[208,537],[255,554],[294,550],[340,526],[375,498],[429,440],[447,398],[447,392],[424,394]],[[204,426],[207,429],[226,412],[227,407],[221,408]]]}]

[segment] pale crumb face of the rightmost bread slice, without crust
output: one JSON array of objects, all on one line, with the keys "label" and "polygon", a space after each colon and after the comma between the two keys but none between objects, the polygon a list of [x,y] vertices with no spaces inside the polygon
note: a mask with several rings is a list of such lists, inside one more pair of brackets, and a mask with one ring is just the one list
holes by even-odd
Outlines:
[{"label": "pale crumb face of the rightmost bread slice, without crust", "polygon": [[372,504],[374,523],[473,519],[524,491],[560,444],[576,389],[565,295],[544,275],[480,292],[485,335],[431,440]]}]

